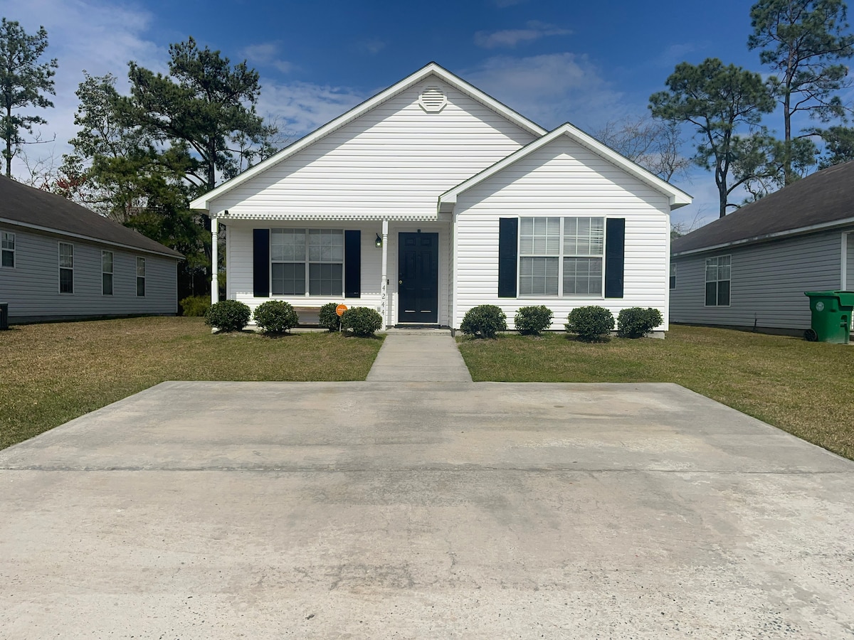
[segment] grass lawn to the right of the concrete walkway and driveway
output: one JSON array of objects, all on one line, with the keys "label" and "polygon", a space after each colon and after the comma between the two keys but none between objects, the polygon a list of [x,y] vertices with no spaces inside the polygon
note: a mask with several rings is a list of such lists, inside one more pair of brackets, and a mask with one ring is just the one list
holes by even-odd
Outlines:
[{"label": "grass lawn to the right of the concrete walkway and driveway", "polygon": [[673,326],[665,340],[458,340],[475,381],[676,382],[854,459],[854,346]]}]

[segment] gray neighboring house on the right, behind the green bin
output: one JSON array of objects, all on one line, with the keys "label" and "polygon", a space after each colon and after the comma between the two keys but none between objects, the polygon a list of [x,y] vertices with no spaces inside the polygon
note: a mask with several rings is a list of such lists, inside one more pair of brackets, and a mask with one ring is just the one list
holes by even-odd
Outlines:
[{"label": "gray neighboring house on the right, behind the green bin", "polygon": [[804,291],[854,288],[854,161],[816,172],[670,246],[670,322],[810,328]]}]

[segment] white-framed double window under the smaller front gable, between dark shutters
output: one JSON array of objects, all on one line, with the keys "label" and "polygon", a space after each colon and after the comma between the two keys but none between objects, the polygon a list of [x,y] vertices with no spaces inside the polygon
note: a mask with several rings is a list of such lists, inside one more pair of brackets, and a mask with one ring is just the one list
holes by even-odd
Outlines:
[{"label": "white-framed double window under the smaller front gable, between dark shutters", "polygon": [[605,218],[520,218],[519,295],[601,296]]}]

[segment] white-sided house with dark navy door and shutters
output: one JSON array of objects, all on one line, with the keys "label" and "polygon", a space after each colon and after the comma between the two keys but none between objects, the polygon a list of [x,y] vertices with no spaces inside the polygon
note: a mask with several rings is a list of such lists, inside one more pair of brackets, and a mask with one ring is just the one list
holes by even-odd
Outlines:
[{"label": "white-sided house with dark navy door and shutters", "polygon": [[191,207],[225,224],[227,297],[253,308],[344,302],[457,329],[475,305],[511,321],[547,305],[562,329],[577,306],[652,306],[663,331],[670,210],[690,201],[431,62]]}]

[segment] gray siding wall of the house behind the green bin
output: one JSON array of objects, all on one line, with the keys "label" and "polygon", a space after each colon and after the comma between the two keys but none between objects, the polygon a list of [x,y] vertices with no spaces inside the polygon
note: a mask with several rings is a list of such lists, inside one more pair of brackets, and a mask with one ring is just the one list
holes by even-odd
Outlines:
[{"label": "gray siding wall of the house behind the green bin", "polygon": [[[705,259],[732,259],[729,306],[705,306]],[[842,237],[824,231],[673,258],[670,321],[763,329],[809,329],[804,291],[841,285]],[[850,286],[849,286],[850,288]]]}]

